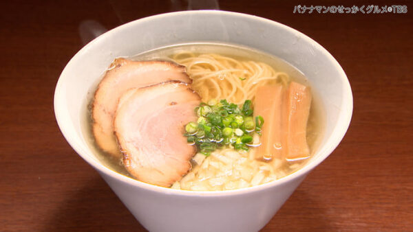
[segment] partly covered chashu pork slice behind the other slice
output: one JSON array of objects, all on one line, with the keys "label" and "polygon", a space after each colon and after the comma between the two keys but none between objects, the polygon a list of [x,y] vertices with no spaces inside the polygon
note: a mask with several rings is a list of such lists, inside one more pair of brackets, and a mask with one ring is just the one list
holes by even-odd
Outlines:
[{"label": "partly covered chashu pork slice behind the other slice", "polygon": [[116,58],[106,71],[94,95],[92,117],[96,143],[102,150],[120,158],[114,136],[114,116],[120,95],[131,88],[140,88],[179,80],[191,83],[185,67],[167,61],[133,61]]}]

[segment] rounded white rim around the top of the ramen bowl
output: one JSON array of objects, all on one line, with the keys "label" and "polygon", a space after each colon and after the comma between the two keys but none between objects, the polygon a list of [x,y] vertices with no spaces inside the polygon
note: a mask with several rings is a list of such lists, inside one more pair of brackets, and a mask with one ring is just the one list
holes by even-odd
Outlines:
[{"label": "rounded white rim around the top of the ramen bowl", "polygon": [[[310,43],[313,45],[315,49],[319,49],[319,51],[322,52],[324,56],[332,62],[333,65],[335,65],[335,68],[337,71],[339,71],[340,75],[338,76],[339,78],[342,79],[343,81],[343,100],[341,102],[341,108],[344,108],[344,110],[341,110],[339,113],[339,117],[337,119],[337,124],[335,125],[335,128],[332,130],[332,136],[327,139],[326,144],[324,145],[323,149],[321,147],[319,148],[319,152],[321,153],[318,154],[317,159],[309,162],[308,164],[304,165],[304,167],[301,167],[299,170],[296,172],[293,172],[292,174],[289,174],[288,176],[284,176],[282,178],[279,178],[275,181],[271,181],[269,183],[264,183],[262,185],[257,185],[253,187],[246,187],[242,189],[231,189],[231,190],[220,190],[220,191],[193,191],[193,190],[182,190],[182,189],[171,189],[167,187],[160,187],[157,185],[151,185],[148,183],[144,183],[141,181],[137,181],[133,178],[130,178],[128,176],[124,176],[123,174],[119,174],[118,172],[115,172],[114,170],[109,169],[109,167],[106,167],[102,163],[99,163],[95,159],[92,159],[92,157],[89,157],[87,153],[92,152],[90,150],[84,150],[81,148],[80,145],[78,145],[78,142],[76,142],[76,139],[72,139],[71,131],[72,128],[70,128],[71,124],[65,124],[66,121],[69,120],[69,116],[65,115],[65,113],[68,113],[68,111],[64,110],[64,106],[61,106],[59,102],[62,102],[65,97],[63,96],[63,92],[61,91],[63,89],[63,78],[65,76],[68,76],[66,74],[68,70],[71,67],[72,62],[76,60],[78,57],[81,57],[88,49],[89,47],[92,47],[95,43],[98,43],[99,40],[101,40],[104,37],[111,36],[112,34],[116,34],[122,30],[125,30],[127,27],[134,27],[134,25],[138,23],[142,23],[144,21],[151,21],[153,19],[162,19],[162,18],[168,18],[170,16],[184,16],[184,15],[205,15],[205,14],[211,14],[211,15],[225,15],[225,16],[237,16],[237,17],[243,17],[245,19],[249,19],[252,21],[261,21],[262,23],[270,23],[271,25],[274,25],[275,27],[281,27],[282,30],[286,30],[289,33],[295,34],[299,36],[301,39],[306,40],[306,43]],[[178,12],[169,12],[169,13],[164,13],[164,14],[156,14],[153,16],[147,16],[145,18],[141,19],[136,19],[135,21],[131,21],[129,23],[125,23],[123,25],[120,25],[118,27],[115,27],[112,30],[109,30],[108,32],[105,32],[104,34],[101,34],[91,42],[89,42],[87,45],[85,45],[82,49],[80,49],[71,59],[69,62],[67,62],[67,65],[63,69],[61,76],[59,76],[59,80],[56,84],[56,89],[54,91],[54,113],[56,117],[57,124],[61,130],[61,133],[63,134],[63,137],[65,137],[67,143],[70,144],[70,146],[76,151],[76,153],[81,156],[89,165],[92,165],[94,169],[98,170],[99,172],[110,176],[117,181],[121,181],[127,185],[132,185],[134,187],[140,187],[142,189],[146,189],[151,192],[158,192],[162,194],[169,194],[169,195],[176,195],[176,196],[209,196],[209,197],[215,197],[215,196],[235,196],[235,195],[240,195],[240,194],[252,194],[255,192],[262,191],[263,189],[270,189],[272,187],[275,187],[277,185],[284,185],[285,183],[288,183],[289,181],[293,181],[297,178],[300,177],[305,177],[306,174],[308,174],[313,168],[315,168],[319,163],[324,161],[335,148],[339,145],[341,139],[343,139],[344,135],[346,134],[346,131],[348,130],[348,127],[350,126],[350,121],[352,118],[352,109],[353,109],[353,102],[352,102],[352,91],[350,88],[350,83],[348,82],[348,78],[346,76],[346,73],[343,71],[342,67],[339,65],[339,62],[335,60],[335,58],[319,43],[317,43],[315,40],[312,38],[306,36],[305,34],[293,29],[292,27],[288,27],[287,25],[284,25],[282,23],[278,23],[276,21],[272,21],[270,19],[265,19],[260,16],[254,16],[251,14],[244,14],[240,12],[230,12],[230,11],[224,11],[224,10],[187,10],[187,11],[178,11]],[[92,154],[93,155],[93,154]]]}]

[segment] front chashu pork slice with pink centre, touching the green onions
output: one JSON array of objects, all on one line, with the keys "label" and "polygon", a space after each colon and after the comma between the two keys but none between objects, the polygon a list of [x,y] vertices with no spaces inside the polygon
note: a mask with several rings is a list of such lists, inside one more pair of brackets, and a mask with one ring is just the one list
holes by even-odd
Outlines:
[{"label": "front chashu pork slice with pink centre, touching the green onions", "polygon": [[200,96],[182,82],[131,89],[120,97],[114,128],[127,171],[139,181],[169,187],[191,169],[195,146],[183,136]]}]

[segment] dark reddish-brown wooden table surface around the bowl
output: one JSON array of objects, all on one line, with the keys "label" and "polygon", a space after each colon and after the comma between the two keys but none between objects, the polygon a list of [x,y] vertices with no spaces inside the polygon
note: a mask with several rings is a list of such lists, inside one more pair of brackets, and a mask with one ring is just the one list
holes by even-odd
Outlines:
[{"label": "dark reddish-brown wooden table surface around the bowl", "polygon": [[[407,13],[294,13],[339,1],[3,1],[0,231],[145,231],[65,141],[53,111],[63,67],[89,37],[145,16],[220,8],[272,19],[324,46],[348,75],[350,128],[262,231],[413,231],[413,4]],[[302,8],[301,8],[302,10]],[[322,11],[325,11],[322,10]]]}]

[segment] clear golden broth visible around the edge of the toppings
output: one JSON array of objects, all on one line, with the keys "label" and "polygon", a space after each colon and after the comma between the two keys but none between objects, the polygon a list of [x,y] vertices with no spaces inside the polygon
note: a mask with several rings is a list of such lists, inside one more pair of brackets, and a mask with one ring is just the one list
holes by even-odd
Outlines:
[{"label": "clear golden broth visible around the edge of the toppings", "polygon": [[[167,47],[161,47],[158,49],[153,49],[146,51],[135,56],[127,57],[130,60],[171,60],[169,57],[181,51],[191,51],[194,54],[204,54],[204,53],[215,53],[222,56],[229,56],[237,60],[253,60],[256,62],[265,62],[270,65],[276,71],[283,71],[287,73],[290,80],[299,82],[306,86],[311,86],[310,81],[301,73],[297,68],[290,65],[285,60],[271,56],[262,51],[257,51],[248,47],[242,47],[239,45],[223,44],[223,43],[188,43],[180,45],[171,45]],[[104,73],[103,73],[104,75]],[[102,75],[102,77],[103,77]],[[91,105],[94,97],[94,92],[100,82],[101,78],[96,82],[93,88],[88,92],[87,95],[87,107],[85,107],[84,119],[83,119],[83,135],[87,145],[92,149],[98,161],[103,163],[106,167],[115,172],[129,176],[133,178],[123,166],[123,161],[114,159],[110,154],[107,154],[103,150],[100,150],[96,145],[94,135],[92,132],[92,114]],[[324,111],[321,106],[321,100],[319,99],[317,93],[312,91],[313,101],[310,108],[310,116],[308,118],[307,126],[307,142],[310,147],[311,156],[313,157],[315,151],[317,150],[319,143],[321,142],[323,131],[324,131]],[[288,174],[291,174],[299,170],[303,165],[305,165],[309,159],[304,159],[300,161],[290,161],[287,162],[290,167],[286,167],[289,170]]]}]

